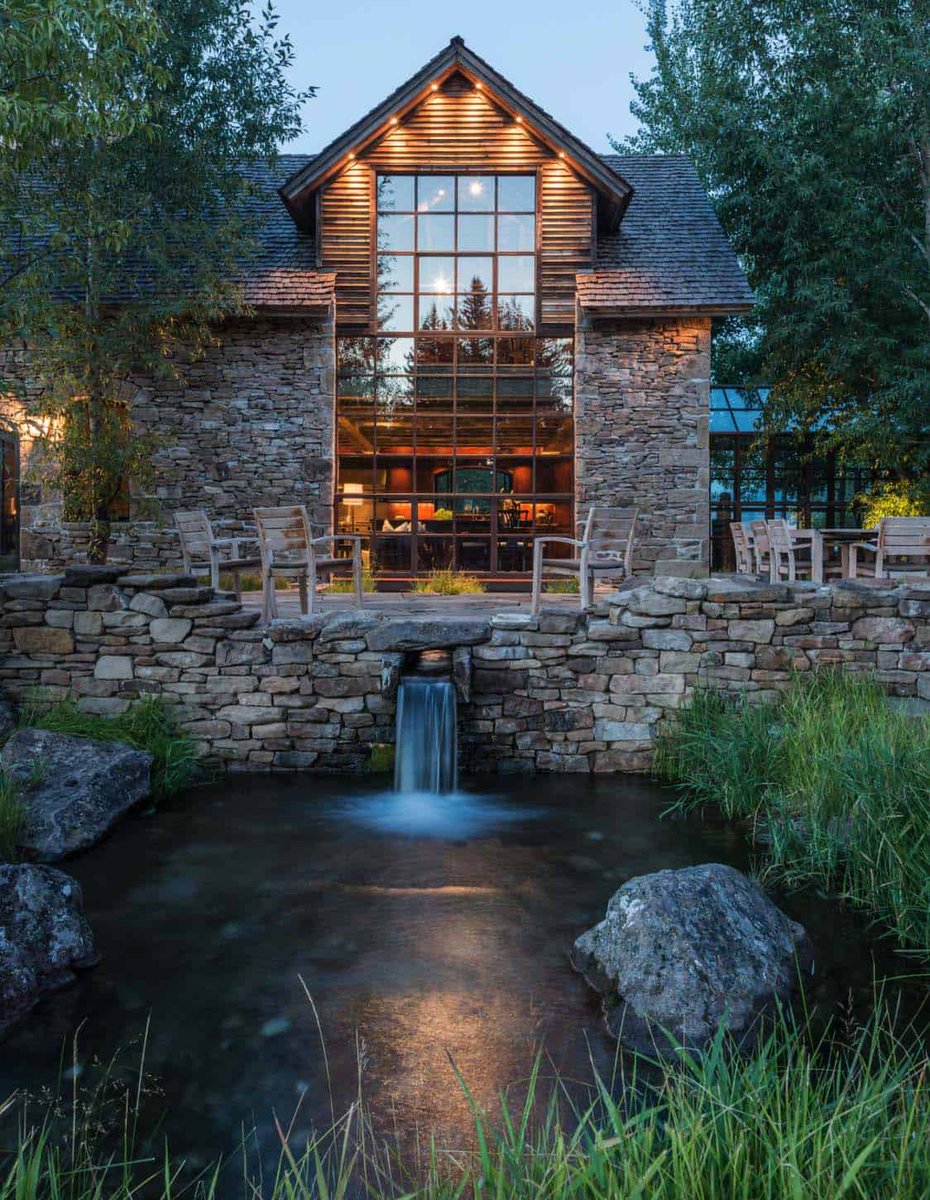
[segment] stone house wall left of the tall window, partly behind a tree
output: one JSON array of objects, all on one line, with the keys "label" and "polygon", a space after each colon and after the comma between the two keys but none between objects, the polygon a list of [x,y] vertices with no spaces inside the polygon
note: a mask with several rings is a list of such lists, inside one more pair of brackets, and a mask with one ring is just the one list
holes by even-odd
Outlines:
[{"label": "stone house wall left of the tall window, partly behind a tree", "polygon": [[[0,355],[0,378],[29,383],[23,347]],[[203,508],[224,534],[252,524],[256,505],[306,504],[332,517],[335,341],[331,318],[251,318],[216,330],[216,343],[174,379],[138,380],[140,433],[156,440],[152,476],[131,485],[131,521],[118,522],[113,560],[143,570],[180,560],[172,514]],[[31,570],[86,560],[80,526],[62,524],[43,485],[22,400],[0,397],[22,431],[22,558]]]}]

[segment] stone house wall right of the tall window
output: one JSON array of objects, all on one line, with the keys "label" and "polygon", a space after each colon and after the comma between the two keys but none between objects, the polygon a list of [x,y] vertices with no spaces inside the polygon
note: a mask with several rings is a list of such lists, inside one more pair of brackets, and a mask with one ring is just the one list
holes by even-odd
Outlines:
[{"label": "stone house wall right of the tall window", "polygon": [[578,312],[576,506],[638,506],[638,571],[706,574],[709,380],[709,319],[595,325]]}]

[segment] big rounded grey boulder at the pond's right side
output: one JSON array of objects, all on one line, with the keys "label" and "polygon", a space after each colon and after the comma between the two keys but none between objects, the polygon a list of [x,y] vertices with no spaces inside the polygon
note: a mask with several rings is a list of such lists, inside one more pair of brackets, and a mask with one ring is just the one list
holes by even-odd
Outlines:
[{"label": "big rounded grey boulder at the pond's right side", "polygon": [[571,962],[602,994],[611,1033],[661,1054],[698,1049],[724,1022],[751,1043],[758,1015],[791,995],[811,958],[803,926],[739,871],[708,863],[624,883]]}]

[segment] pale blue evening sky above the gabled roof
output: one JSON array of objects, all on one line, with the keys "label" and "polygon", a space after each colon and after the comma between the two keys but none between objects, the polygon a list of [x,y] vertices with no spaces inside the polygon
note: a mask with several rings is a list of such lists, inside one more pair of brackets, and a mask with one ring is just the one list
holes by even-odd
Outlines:
[{"label": "pale blue evening sky above the gabled roof", "polygon": [[[258,7],[259,0],[256,0]],[[282,150],[313,152],[461,35],[481,58],[586,142],[636,131],[630,73],[649,73],[636,0],[275,0],[290,35],[294,86],[319,90],[304,132]]]}]

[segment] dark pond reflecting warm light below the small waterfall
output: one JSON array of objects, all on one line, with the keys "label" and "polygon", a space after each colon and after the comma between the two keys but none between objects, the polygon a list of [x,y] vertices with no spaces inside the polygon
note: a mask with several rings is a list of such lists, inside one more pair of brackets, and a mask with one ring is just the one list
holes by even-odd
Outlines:
[{"label": "dark pond reflecting warm light below the small waterfall", "polygon": [[[614,1045],[568,952],[620,883],[749,866],[742,829],[662,820],[670,793],[632,776],[484,780],[439,802],[382,788],[233,776],[67,863],[102,961],[0,1044],[0,1096],[53,1084],[78,1030],[85,1079],[121,1049],[134,1062],[150,1021],[162,1133],[194,1162],[253,1123],[275,1157],[272,1111],[326,1122],[359,1072],[384,1128],[461,1145],[451,1062],[487,1104],[540,1048],[569,1079],[589,1080],[592,1061],[610,1073]],[[906,973],[860,916],[809,894],[780,904],[812,936],[822,1010],[864,1012],[876,978]]]}]

